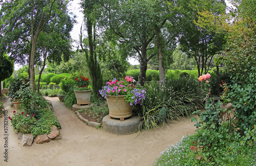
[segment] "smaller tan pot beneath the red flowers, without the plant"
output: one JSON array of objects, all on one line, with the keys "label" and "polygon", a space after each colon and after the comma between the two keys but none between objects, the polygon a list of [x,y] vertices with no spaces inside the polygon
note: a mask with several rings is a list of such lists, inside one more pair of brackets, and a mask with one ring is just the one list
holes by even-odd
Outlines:
[{"label": "smaller tan pot beneath the red flowers, without the plant", "polygon": [[75,91],[76,100],[78,105],[86,105],[91,103],[92,90],[87,91]]}]

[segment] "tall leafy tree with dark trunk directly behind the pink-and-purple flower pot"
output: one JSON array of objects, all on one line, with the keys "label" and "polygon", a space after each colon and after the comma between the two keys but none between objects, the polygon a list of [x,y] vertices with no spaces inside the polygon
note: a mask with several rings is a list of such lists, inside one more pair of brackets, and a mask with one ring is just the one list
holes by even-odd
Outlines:
[{"label": "tall leafy tree with dark trunk directly behind the pink-and-purple flower pot", "polygon": [[[129,56],[139,60],[138,80],[141,85],[144,85],[147,62],[158,54],[157,51],[150,54],[147,51],[156,46],[153,42],[156,30],[159,34],[159,30],[166,22],[164,15],[159,14],[161,10],[157,10],[161,3],[155,0],[105,0],[99,3],[102,6],[102,15],[98,22],[101,31],[104,31],[110,39],[119,41],[124,58]],[[161,17],[156,19],[156,15]],[[159,52],[162,52],[160,47]]]}]

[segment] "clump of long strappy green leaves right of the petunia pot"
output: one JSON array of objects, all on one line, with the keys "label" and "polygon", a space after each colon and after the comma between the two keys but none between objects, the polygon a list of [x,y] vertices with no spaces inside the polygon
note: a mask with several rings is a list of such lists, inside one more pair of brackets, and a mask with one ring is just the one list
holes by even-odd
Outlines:
[{"label": "clump of long strappy green leaves right of the petunia pot", "polygon": [[151,81],[145,85],[145,89],[147,93],[143,105],[135,107],[142,118],[140,128],[158,127],[158,122],[164,123],[179,115],[190,115],[195,106],[203,105],[204,91],[193,78],[166,80],[165,86]]}]

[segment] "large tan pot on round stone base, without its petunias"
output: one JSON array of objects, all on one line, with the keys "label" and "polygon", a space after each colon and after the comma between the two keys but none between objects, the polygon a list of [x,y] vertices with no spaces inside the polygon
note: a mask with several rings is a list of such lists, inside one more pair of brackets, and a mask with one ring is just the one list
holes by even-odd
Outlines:
[{"label": "large tan pot on round stone base, without its petunias", "polygon": [[106,96],[106,102],[109,106],[110,117],[112,118],[120,118],[120,120],[124,120],[124,118],[131,117],[133,115],[133,106],[130,103],[126,103],[124,99],[124,95],[120,96]]}]

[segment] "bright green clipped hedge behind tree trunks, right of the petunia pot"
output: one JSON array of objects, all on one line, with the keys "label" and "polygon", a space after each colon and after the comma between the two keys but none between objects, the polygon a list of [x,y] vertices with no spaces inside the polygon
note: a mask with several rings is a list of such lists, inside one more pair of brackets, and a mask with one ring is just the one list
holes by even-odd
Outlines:
[{"label": "bright green clipped hedge behind tree trunks, right of the petunia pot", "polygon": [[[140,70],[129,70],[126,72],[126,75],[130,75],[134,77],[136,81],[138,81],[138,77],[140,74]],[[197,70],[167,70],[165,72],[165,78],[166,79],[174,79],[181,76],[188,76],[190,75],[192,78],[197,78],[198,72]],[[158,70],[147,70],[146,71],[146,78],[145,81],[151,81],[151,80],[159,80],[159,71]]]}]

